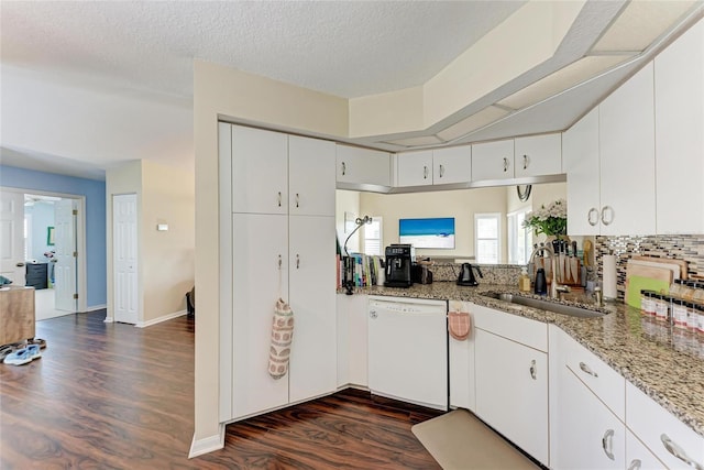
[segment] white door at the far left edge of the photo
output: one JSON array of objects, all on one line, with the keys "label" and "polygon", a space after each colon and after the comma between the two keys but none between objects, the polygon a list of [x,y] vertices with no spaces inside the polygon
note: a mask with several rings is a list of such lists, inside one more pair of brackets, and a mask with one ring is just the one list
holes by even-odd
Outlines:
[{"label": "white door at the far left edge of the photo", "polygon": [[24,285],[24,195],[0,192],[0,274]]}]

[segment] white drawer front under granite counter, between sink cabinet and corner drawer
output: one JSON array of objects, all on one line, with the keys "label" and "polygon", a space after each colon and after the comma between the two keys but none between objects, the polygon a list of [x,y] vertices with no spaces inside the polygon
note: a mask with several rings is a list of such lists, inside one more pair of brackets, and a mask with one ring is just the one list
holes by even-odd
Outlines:
[{"label": "white drawer front under granite counter, between sink cabinet and corner drawer", "polygon": [[564,335],[566,367],[620,419],[625,419],[626,379],[582,345]]}]

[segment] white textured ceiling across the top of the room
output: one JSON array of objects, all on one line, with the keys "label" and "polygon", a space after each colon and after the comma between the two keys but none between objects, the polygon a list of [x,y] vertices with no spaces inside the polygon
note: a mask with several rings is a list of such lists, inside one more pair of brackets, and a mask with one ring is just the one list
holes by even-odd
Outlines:
[{"label": "white textured ceiling across the top of the room", "polygon": [[3,1],[1,59],[189,97],[197,57],[349,98],[427,81],[522,3]]}]

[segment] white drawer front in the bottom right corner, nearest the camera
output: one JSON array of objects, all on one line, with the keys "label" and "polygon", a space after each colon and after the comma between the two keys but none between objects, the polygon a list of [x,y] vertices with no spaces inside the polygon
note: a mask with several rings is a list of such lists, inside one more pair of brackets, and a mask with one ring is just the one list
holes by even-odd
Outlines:
[{"label": "white drawer front in the bottom right corner, nearest the camera", "polygon": [[[630,383],[626,384],[626,426],[668,468],[697,468],[697,463],[704,466],[704,437]],[[672,451],[680,449],[683,457],[676,458],[668,450],[664,441],[668,441],[667,446]],[[686,458],[693,463],[685,461]]]}]

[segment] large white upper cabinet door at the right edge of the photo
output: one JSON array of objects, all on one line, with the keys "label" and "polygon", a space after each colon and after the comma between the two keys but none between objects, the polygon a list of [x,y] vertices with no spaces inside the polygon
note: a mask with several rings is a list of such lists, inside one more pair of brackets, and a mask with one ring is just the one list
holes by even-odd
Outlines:
[{"label": "large white upper cabinet door at the right edge of the photo", "polygon": [[704,233],[704,20],[654,59],[658,233]]}]

